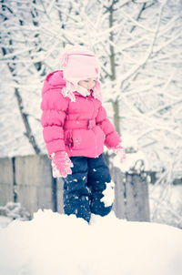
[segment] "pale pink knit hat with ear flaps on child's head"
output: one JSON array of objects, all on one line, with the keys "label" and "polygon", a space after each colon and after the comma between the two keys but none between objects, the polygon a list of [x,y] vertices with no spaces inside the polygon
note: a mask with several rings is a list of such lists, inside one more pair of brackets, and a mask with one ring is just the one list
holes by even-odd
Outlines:
[{"label": "pale pink knit hat with ear flaps on child's head", "polygon": [[[71,101],[76,101],[74,92],[80,80],[99,76],[98,61],[94,53],[84,46],[66,46],[60,56],[60,65],[63,67],[63,75],[66,80],[66,87],[62,93]],[[101,100],[100,83],[96,80],[93,88],[93,96]]]}]

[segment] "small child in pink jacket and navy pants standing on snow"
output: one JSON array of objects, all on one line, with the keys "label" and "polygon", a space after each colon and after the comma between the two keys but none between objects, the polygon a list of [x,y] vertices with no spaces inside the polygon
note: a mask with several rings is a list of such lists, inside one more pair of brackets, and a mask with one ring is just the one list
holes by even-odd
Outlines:
[{"label": "small child in pink jacket and navy pants standing on snow", "polygon": [[102,153],[104,145],[125,158],[121,139],[102,107],[96,56],[82,46],[68,46],[63,71],[45,78],[41,118],[53,176],[64,179],[64,211],[90,220],[106,216],[113,183]]}]

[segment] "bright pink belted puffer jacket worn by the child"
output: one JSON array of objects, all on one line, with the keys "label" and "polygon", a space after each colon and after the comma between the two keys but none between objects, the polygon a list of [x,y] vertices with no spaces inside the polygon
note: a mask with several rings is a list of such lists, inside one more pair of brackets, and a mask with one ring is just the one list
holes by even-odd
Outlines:
[{"label": "bright pink belted puffer jacket worn by the child", "polygon": [[104,144],[107,148],[116,147],[121,139],[101,102],[77,92],[76,102],[71,102],[62,94],[65,85],[62,71],[45,77],[41,123],[49,158],[52,153],[65,150],[69,157],[96,158],[103,152]]}]

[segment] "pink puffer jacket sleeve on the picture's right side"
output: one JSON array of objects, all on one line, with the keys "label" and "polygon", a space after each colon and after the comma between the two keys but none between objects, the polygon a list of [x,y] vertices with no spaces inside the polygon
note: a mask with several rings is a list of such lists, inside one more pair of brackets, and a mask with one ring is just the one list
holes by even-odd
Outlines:
[{"label": "pink puffer jacket sleeve on the picture's right side", "polygon": [[106,109],[102,106],[98,109],[98,113],[96,116],[96,125],[101,127],[106,135],[105,145],[107,148],[115,148],[121,142],[121,138],[116,132],[115,127],[106,117]]}]

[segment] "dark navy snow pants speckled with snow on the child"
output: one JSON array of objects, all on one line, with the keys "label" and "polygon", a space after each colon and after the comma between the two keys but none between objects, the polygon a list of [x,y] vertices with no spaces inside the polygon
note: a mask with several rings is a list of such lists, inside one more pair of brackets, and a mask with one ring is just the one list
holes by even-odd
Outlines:
[{"label": "dark navy snow pants speckled with snow on the child", "polygon": [[102,154],[98,158],[71,157],[72,175],[64,178],[64,211],[67,215],[90,220],[91,213],[106,216],[112,205],[101,201],[106,183],[111,182]]}]

